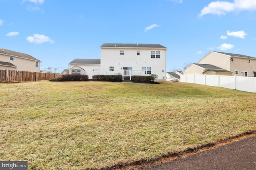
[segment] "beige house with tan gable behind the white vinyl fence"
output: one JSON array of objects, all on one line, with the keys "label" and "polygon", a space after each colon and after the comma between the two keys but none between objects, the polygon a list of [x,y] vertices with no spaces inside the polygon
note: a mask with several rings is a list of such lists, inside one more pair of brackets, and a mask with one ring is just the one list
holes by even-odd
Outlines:
[{"label": "beige house with tan gable behind the white vinyl fence", "polygon": [[210,51],[197,63],[190,64],[182,73],[256,77],[256,58]]}]

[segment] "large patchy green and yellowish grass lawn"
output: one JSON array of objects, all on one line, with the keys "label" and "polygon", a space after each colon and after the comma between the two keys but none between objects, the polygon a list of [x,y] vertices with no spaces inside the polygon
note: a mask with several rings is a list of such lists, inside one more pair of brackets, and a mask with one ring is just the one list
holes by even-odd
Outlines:
[{"label": "large patchy green and yellowish grass lawn", "polygon": [[256,94],[196,85],[0,83],[0,160],[96,169],[256,131]]}]

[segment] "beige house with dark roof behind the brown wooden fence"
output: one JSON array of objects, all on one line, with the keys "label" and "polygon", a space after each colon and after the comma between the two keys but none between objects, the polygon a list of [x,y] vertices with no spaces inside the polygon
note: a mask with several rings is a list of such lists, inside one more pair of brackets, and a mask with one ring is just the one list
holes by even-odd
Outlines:
[{"label": "beige house with dark roof behind the brown wooden fence", "polygon": [[0,48],[0,70],[40,72],[40,62],[31,55]]}]

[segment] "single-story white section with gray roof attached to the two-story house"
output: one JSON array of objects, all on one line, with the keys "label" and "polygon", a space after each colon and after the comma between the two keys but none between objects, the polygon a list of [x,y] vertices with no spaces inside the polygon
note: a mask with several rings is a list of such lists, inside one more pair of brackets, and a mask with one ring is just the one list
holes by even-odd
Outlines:
[{"label": "single-story white section with gray roof attached to the two-story house", "polygon": [[69,74],[86,74],[89,79],[100,74],[100,59],[74,59],[69,65]]}]

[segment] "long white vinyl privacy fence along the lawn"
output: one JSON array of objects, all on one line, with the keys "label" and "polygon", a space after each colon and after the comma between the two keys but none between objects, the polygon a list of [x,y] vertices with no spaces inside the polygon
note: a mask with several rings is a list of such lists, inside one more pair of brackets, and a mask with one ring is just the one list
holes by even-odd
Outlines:
[{"label": "long white vinyl privacy fence along the lawn", "polygon": [[256,77],[185,74],[180,81],[256,93]]}]

